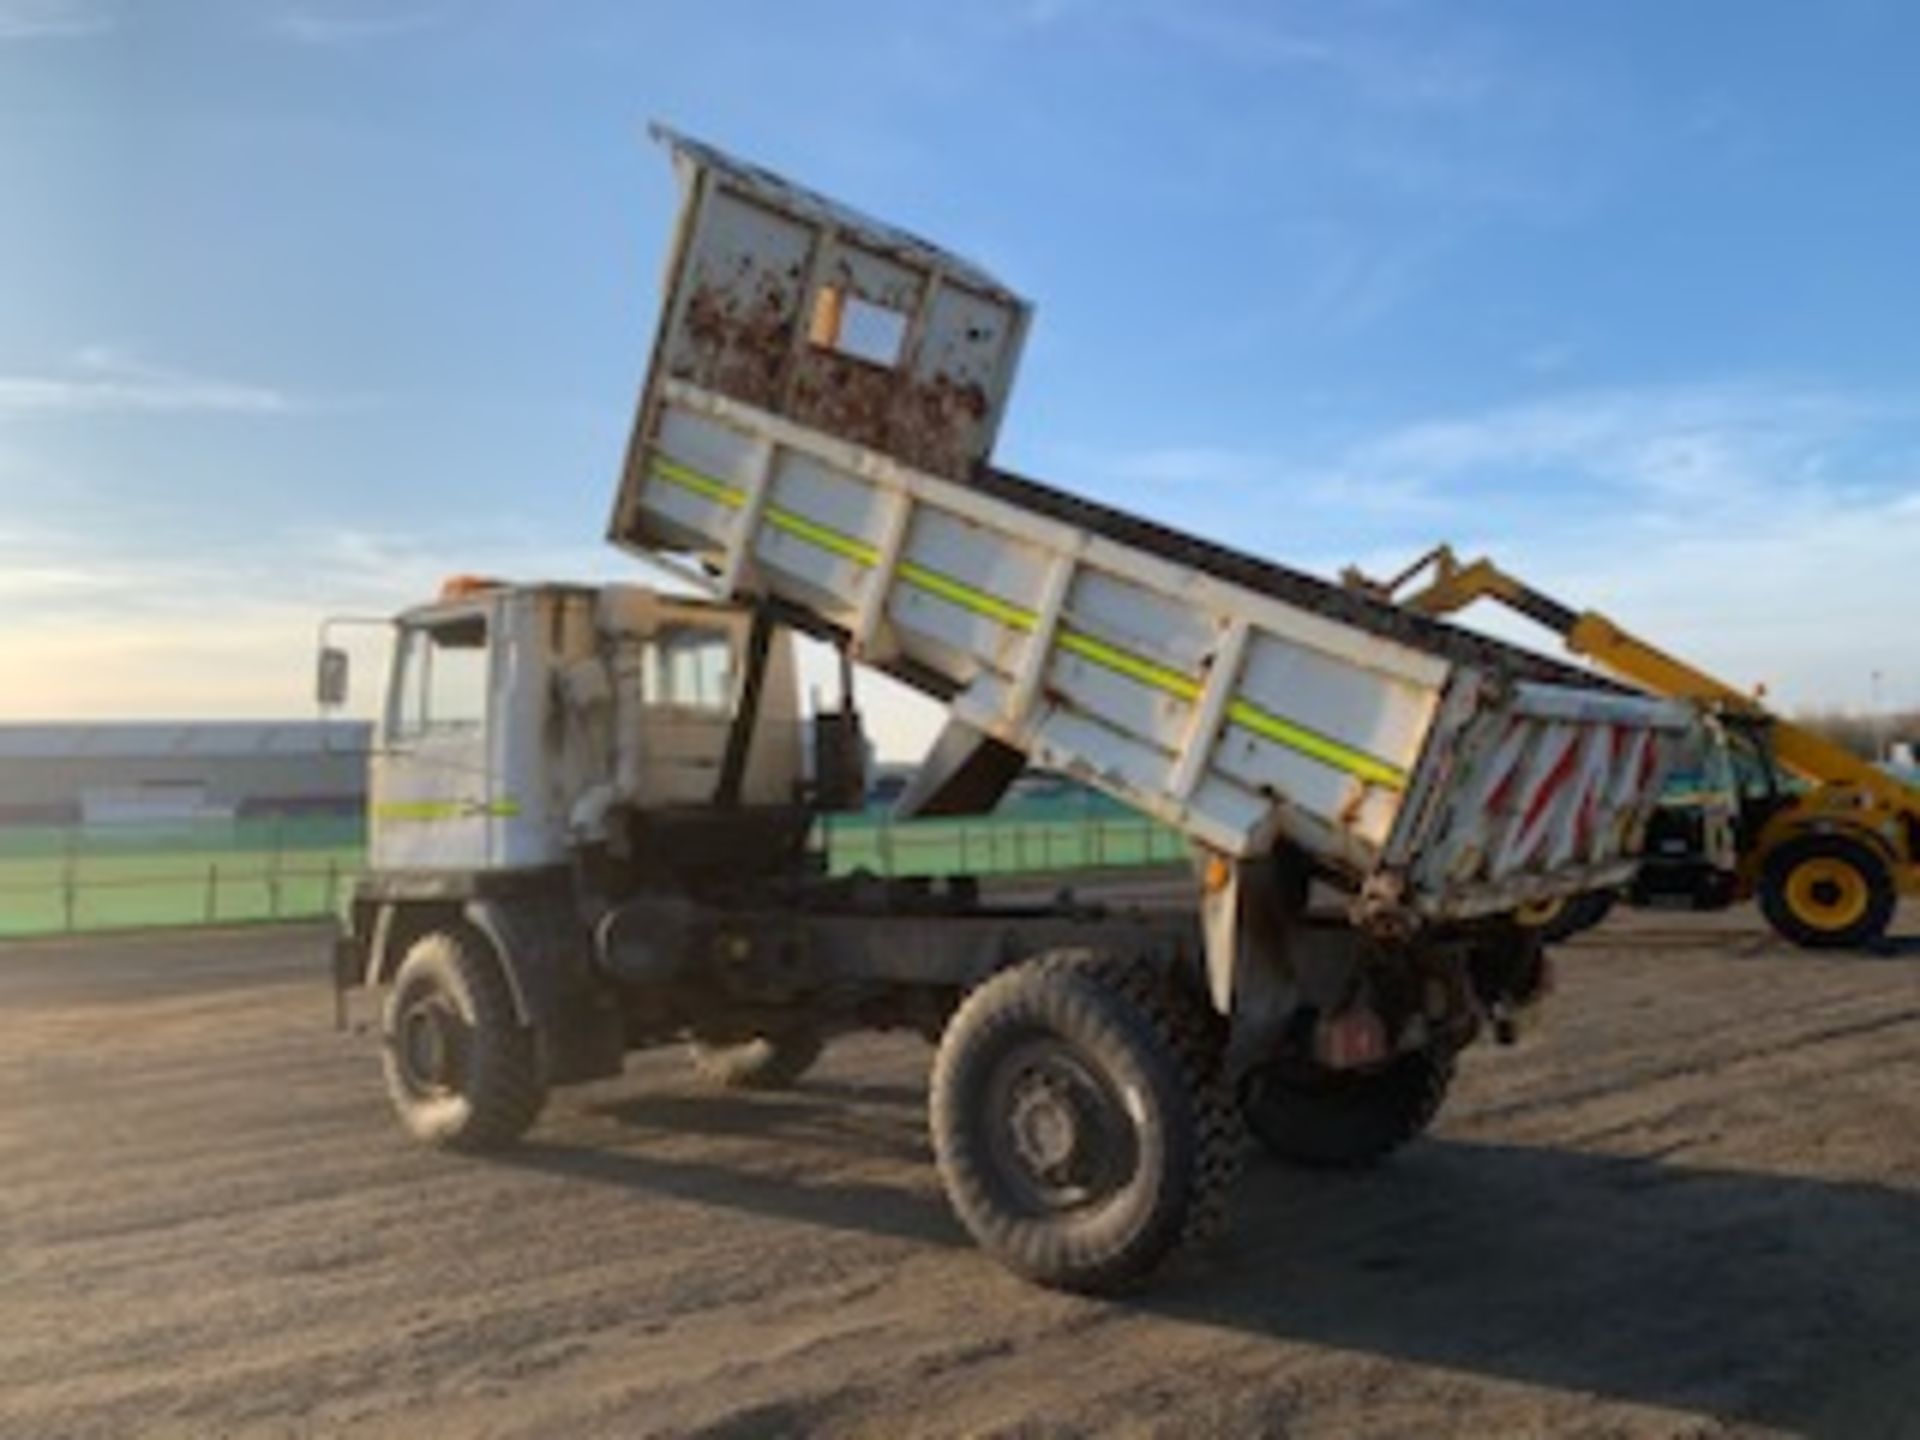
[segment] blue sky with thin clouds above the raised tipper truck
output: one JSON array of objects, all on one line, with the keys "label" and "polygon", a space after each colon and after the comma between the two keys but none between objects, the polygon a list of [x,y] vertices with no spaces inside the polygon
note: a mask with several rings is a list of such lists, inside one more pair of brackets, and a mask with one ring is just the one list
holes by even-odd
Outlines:
[{"label": "blue sky with thin clouds above the raised tipper truck", "polygon": [[649,117],[1031,296],[1012,468],[1920,703],[1916,52],[1862,0],[0,0],[0,718],[301,714],[323,612],[634,576]]}]

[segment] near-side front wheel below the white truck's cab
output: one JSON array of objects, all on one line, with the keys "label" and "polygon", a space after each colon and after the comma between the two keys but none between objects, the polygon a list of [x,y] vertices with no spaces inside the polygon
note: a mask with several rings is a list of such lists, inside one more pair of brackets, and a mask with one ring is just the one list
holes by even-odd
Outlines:
[{"label": "near-side front wheel below the white truck's cab", "polygon": [[547,1102],[534,1031],[472,931],[430,931],[409,947],[386,993],[380,1039],[388,1098],[426,1144],[497,1150],[520,1139]]}]

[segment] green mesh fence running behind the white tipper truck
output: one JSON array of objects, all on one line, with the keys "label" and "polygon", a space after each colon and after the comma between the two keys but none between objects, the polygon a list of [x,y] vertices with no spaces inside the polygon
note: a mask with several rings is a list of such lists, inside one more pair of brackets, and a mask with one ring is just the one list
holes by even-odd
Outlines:
[{"label": "green mesh fence running behind the white tipper truck", "polygon": [[[831,816],[835,874],[1018,876],[1171,864],[1181,835],[1087,793],[1020,799],[975,820]],[[0,826],[0,939],[330,916],[365,860],[357,816],[169,828]]]}]

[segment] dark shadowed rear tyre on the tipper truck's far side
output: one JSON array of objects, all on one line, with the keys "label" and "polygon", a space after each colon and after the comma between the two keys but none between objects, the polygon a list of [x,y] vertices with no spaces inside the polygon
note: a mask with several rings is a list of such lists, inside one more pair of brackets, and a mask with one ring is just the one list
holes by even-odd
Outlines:
[{"label": "dark shadowed rear tyre on the tipper truck's far side", "polygon": [[1432,1125],[1453,1083],[1453,1062],[1450,1046],[1432,1046],[1367,1071],[1304,1062],[1258,1066],[1240,1081],[1240,1114],[1281,1160],[1359,1169]]}]

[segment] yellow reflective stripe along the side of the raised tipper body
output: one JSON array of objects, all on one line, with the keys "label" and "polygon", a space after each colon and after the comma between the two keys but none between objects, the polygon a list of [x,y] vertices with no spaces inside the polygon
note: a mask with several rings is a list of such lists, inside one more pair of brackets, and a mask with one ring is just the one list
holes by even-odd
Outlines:
[{"label": "yellow reflective stripe along the side of the raised tipper body", "polygon": [[[697,495],[726,505],[730,509],[739,509],[747,503],[747,492],[739,486],[730,486],[724,480],[716,480],[710,474],[701,474],[678,461],[655,455],[653,472],[684,490],[691,490]],[[808,543],[820,545],[820,549],[839,555],[856,564],[877,564],[879,549],[847,536],[839,530],[831,530],[824,524],[816,524],[804,516],[785,511],[778,505],[766,507],[766,522],[776,530],[785,530],[789,536],[806,540]],[[937,595],[950,605],[958,605],[973,614],[983,614],[989,620],[1008,626],[1010,630],[1031,632],[1039,624],[1039,616],[1033,611],[1021,609],[1012,601],[1004,601],[985,589],[977,589],[962,580],[954,580],[939,570],[929,570],[914,561],[902,561],[899,566],[899,578],[914,589],[924,589],[929,595]],[[1083,630],[1060,628],[1054,637],[1054,645],[1069,655],[1077,655],[1083,660],[1092,660],[1104,670],[1137,680],[1142,685],[1152,685],[1167,695],[1177,695],[1183,701],[1198,701],[1202,682],[1188,674],[1173,670],[1156,660],[1148,660],[1133,651],[1123,651],[1117,645],[1110,645],[1104,639],[1096,639]],[[1311,760],[1332,766],[1334,770],[1344,770],[1350,776],[1357,776],[1373,785],[1386,785],[1388,789],[1405,789],[1407,772],[1380,760],[1365,751],[1356,751],[1352,745],[1342,745],[1329,735],[1321,735],[1317,730],[1308,730],[1302,724],[1284,720],[1271,714],[1252,701],[1231,701],[1227,705],[1227,720],[1250,730],[1261,739],[1269,739],[1275,745],[1284,745],[1290,751],[1298,751]]]}]

